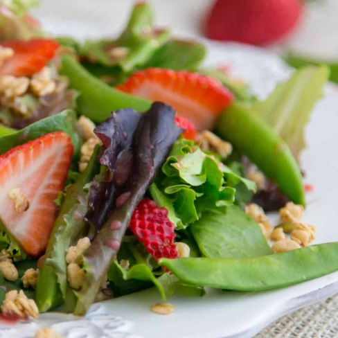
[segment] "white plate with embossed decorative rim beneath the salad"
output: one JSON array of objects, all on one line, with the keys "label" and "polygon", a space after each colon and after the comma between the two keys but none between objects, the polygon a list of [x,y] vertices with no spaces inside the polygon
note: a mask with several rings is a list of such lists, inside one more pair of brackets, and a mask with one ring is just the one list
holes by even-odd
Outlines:
[{"label": "white plate with embossed decorative rim beneath the salad", "polygon": [[[48,15],[48,20],[51,19],[48,21],[49,28],[57,32],[62,26],[64,33],[67,28],[62,18],[53,17],[53,12]],[[107,24],[107,19],[105,24],[102,21],[99,27]],[[71,22],[71,27],[77,27],[74,33],[78,37],[93,33],[93,26],[89,25],[92,21],[86,21],[86,17],[82,21],[67,22]],[[86,22],[89,24],[86,25]],[[276,82],[290,75],[290,69],[277,56],[258,48],[215,43],[208,43],[208,47],[206,64],[230,64],[233,74],[248,80],[259,96],[266,96]],[[328,85],[325,98],[317,105],[308,125],[306,138],[309,147],[302,157],[308,174],[306,180],[315,186],[314,193],[308,195],[305,221],[317,227],[317,243],[338,240],[337,107],[338,92],[333,85]],[[33,337],[35,330],[44,326],[55,328],[64,338],[252,337],[283,314],[336,292],[338,272],[276,291],[248,293],[210,290],[203,298],[177,294],[170,300],[175,305],[174,314],[162,317],[150,312],[150,306],[161,301],[157,291],[150,289],[96,304],[81,320],[50,313],[43,314],[36,322],[0,326],[0,337]]]}]

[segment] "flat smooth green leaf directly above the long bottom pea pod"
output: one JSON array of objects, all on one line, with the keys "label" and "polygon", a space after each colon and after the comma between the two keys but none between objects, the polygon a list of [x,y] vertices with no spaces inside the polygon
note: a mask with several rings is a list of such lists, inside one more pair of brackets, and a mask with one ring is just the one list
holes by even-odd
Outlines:
[{"label": "flat smooth green leaf directly above the long bottom pea pod", "polygon": [[260,226],[238,206],[226,214],[208,211],[189,227],[199,250],[208,258],[256,257],[272,253]]}]

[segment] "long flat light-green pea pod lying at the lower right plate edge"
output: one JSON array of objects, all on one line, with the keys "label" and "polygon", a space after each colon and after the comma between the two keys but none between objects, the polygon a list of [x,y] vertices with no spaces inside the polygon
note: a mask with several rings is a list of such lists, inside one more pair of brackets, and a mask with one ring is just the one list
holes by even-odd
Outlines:
[{"label": "long flat light-green pea pod lying at the lower right plate edge", "polygon": [[250,258],[162,258],[182,283],[226,290],[272,290],[338,270],[338,242]]}]

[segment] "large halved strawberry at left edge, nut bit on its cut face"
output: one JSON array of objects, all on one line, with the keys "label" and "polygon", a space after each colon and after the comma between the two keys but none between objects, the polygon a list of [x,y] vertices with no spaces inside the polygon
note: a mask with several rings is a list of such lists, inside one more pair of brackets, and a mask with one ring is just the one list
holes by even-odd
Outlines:
[{"label": "large halved strawberry at left edge, nut bit on its cut face", "polygon": [[[29,256],[46,249],[72,154],[70,137],[54,132],[0,156],[0,220]],[[24,208],[16,204],[15,190]]]}]

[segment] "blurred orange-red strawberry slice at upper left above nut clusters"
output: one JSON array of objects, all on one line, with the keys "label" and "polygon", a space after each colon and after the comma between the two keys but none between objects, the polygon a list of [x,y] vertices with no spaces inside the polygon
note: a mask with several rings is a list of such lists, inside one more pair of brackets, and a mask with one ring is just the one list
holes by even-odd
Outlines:
[{"label": "blurred orange-red strawberry slice at upper left above nut clusters", "polygon": [[51,39],[9,40],[1,46],[14,55],[0,66],[0,75],[29,76],[40,71],[55,56],[59,44]]}]

